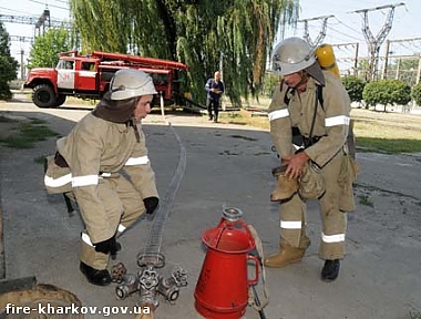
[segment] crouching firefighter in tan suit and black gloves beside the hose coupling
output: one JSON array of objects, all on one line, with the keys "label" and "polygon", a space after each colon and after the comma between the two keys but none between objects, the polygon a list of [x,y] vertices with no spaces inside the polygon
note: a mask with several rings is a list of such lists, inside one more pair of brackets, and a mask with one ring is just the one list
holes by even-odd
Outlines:
[{"label": "crouching firefighter in tan suit and black gloves beside the hose coupling", "polygon": [[121,249],[116,238],[158,205],[141,127],[155,93],[143,71],[117,71],[97,106],[58,140],[55,155],[48,157],[48,192],[72,196],[82,215],[80,270],[93,285],[111,282],[106,268]]}]

